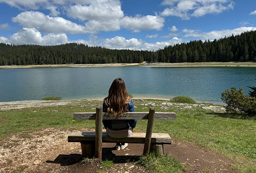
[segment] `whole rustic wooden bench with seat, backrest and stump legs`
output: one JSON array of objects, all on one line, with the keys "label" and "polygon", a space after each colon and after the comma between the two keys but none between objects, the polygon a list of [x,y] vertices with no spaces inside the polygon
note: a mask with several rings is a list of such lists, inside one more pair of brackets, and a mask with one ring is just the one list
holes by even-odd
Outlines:
[{"label": "whole rustic wooden bench with seat, backrest and stump legs", "polygon": [[[95,112],[74,113],[74,120],[96,120],[95,132],[77,132],[68,136],[68,142],[80,142],[82,155],[85,157],[95,156],[101,159],[102,142],[107,143],[144,143],[143,154],[150,151],[157,151],[163,154],[163,144],[171,144],[171,137],[167,133],[152,133],[154,120],[176,120],[174,112],[155,112],[155,108],[150,108],[148,112],[126,112],[121,116],[114,116],[110,113],[102,113],[102,105],[96,106]],[[127,138],[111,138],[106,132],[102,132],[103,120],[148,120],[146,133],[132,132]]]}]

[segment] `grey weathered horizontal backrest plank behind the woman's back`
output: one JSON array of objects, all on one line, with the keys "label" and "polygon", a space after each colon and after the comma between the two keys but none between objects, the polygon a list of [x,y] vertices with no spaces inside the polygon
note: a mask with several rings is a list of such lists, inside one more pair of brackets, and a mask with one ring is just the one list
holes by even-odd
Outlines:
[{"label": "grey weathered horizontal backrest plank behind the woman's back", "polygon": [[[74,120],[95,120],[95,117],[96,117],[95,112],[75,112],[73,115],[74,115]],[[126,112],[126,113],[123,113],[121,116],[114,116],[110,113],[103,113],[102,119],[103,120],[114,120],[114,119],[147,120],[148,115],[149,115],[148,112]],[[175,112],[156,112],[155,120],[176,120],[176,113]]]}]

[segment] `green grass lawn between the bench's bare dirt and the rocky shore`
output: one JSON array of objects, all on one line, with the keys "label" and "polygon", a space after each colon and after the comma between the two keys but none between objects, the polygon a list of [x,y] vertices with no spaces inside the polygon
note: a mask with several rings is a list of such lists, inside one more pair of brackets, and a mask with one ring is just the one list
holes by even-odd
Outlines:
[{"label": "green grass lawn between the bench's bare dirt and the rocky shore", "polygon": [[[145,99],[145,102],[135,101],[137,112],[148,112],[149,107],[140,105],[150,101],[156,104],[156,112],[176,112],[176,120],[155,120],[154,133],[169,133],[176,140],[188,141],[204,146],[236,161],[234,167],[242,173],[256,172],[256,117],[245,118],[238,114],[223,112],[215,113],[199,106],[184,109],[177,104],[160,109],[166,100]],[[45,108],[24,108],[22,110],[0,111],[0,145],[15,143],[8,136],[24,132],[23,138],[30,138],[30,131],[45,128],[83,129],[95,128],[95,120],[72,121],[74,112],[94,112],[102,101],[73,101],[70,105],[59,105]],[[206,104],[206,103],[204,103]],[[81,107],[81,105],[84,105]],[[206,104],[213,105],[213,104]],[[57,111],[52,111],[57,110]],[[37,112],[33,112],[37,111]],[[135,132],[146,132],[147,121],[138,120]],[[6,146],[8,147],[8,146]]]}]

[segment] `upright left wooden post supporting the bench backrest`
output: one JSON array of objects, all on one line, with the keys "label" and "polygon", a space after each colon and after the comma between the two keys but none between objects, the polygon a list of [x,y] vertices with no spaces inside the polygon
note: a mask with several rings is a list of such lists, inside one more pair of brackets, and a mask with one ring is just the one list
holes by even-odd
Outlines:
[{"label": "upright left wooden post supporting the bench backrest", "polygon": [[102,152],[102,105],[96,106],[96,121],[95,121],[95,157],[101,160]]}]

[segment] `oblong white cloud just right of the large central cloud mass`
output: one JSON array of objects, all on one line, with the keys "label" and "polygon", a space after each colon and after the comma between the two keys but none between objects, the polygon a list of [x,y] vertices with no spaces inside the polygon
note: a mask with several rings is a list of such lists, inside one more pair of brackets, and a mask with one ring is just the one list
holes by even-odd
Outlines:
[{"label": "oblong white cloud just right of the large central cloud mass", "polygon": [[128,17],[125,16],[121,19],[121,25],[130,29],[133,32],[140,32],[140,30],[161,30],[164,26],[164,18],[160,16],[139,16],[136,17]]}]

